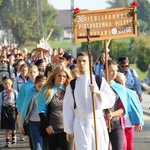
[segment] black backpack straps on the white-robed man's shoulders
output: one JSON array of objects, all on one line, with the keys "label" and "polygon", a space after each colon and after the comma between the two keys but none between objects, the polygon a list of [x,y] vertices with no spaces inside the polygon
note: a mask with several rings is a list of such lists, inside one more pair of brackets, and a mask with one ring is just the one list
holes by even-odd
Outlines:
[{"label": "black backpack straps on the white-robed man's shoulders", "polygon": [[[70,81],[70,86],[71,86],[71,89],[72,89],[72,96],[73,96],[73,101],[74,101],[74,109],[77,108],[75,97],[74,97],[74,89],[75,89],[76,79],[77,78]],[[102,77],[99,76],[99,75],[95,75],[95,80],[96,80],[97,86],[100,89],[101,88],[101,83],[102,83]]]}]

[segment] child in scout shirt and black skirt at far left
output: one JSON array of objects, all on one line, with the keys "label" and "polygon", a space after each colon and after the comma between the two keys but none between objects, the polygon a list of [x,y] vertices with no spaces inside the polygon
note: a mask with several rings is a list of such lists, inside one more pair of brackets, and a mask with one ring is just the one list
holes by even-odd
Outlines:
[{"label": "child in scout shirt and black skirt at far left", "polygon": [[[3,78],[4,91],[0,93],[0,121],[6,138],[5,147],[11,143],[16,144],[17,109],[16,98],[18,92],[12,88],[12,80],[9,77]],[[9,140],[9,130],[12,132],[12,142]]]}]

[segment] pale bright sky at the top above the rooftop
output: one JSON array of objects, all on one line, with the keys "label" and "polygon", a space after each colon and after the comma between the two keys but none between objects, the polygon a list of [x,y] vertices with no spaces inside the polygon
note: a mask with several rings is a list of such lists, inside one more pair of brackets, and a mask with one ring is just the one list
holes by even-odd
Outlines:
[{"label": "pale bright sky at the top above the rooftop", "polygon": [[[73,0],[48,0],[56,9],[70,9]],[[74,8],[100,10],[108,7],[107,0],[74,0]]]}]

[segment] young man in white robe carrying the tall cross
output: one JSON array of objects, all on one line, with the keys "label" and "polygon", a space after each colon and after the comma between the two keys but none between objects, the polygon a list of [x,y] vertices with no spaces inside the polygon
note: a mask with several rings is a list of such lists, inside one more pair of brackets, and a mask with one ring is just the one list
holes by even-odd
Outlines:
[{"label": "young man in white robe carrying the tall cross", "polygon": [[100,89],[94,75],[92,76],[93,85],[90,83],[88,53],[79,53],[76,60],[80,76],[75,82],[74,98],[69,85],[66,89],[63,105],[64,131],[67,133],[67,140],[70,142],[74,136],[76,150],[96,149],[91,96],[91,92],[93,92],[98,150],[107,150],[109,138],[103,109],[114,105],[115,95],[104,78],[102,78]]}]

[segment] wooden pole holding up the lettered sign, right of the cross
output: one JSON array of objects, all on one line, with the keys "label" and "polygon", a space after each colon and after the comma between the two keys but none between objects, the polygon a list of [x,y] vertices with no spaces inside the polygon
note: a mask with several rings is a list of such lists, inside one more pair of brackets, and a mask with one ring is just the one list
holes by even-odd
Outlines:
[{"label": "wooden pole holding up the lettered sign, right of the cross", "polygon": [[[106,65],[106,81],[109,81],[109,76],[108,76],[108,54],[107,54],[107,40],[104,40],[104,48],[105,48],[105,65]],[[110,109],[108,109],[108,112],[110,112]],[[111,132],[111,120],[108,120],[108,131]]]}]

